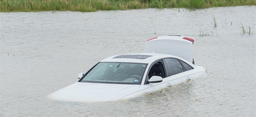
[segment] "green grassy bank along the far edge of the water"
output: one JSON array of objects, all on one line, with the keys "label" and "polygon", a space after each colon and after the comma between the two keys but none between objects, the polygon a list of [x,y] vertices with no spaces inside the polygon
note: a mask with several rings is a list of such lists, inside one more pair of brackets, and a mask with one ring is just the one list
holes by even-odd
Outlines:
[{"label": "green grassy bank along the far edge of the water", "polygon": [[0,0],[0,12],[210,8],[256,5],[256,0]]}]

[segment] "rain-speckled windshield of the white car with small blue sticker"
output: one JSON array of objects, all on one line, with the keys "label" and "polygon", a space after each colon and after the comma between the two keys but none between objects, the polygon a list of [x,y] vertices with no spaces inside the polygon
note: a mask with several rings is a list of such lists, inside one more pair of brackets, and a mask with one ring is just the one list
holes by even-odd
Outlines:
[{"label": "rain-speckled windshield of the white car with small blue sticker", "polygon": [[80,82],[141,84],[146,63],[100,62]]}]

